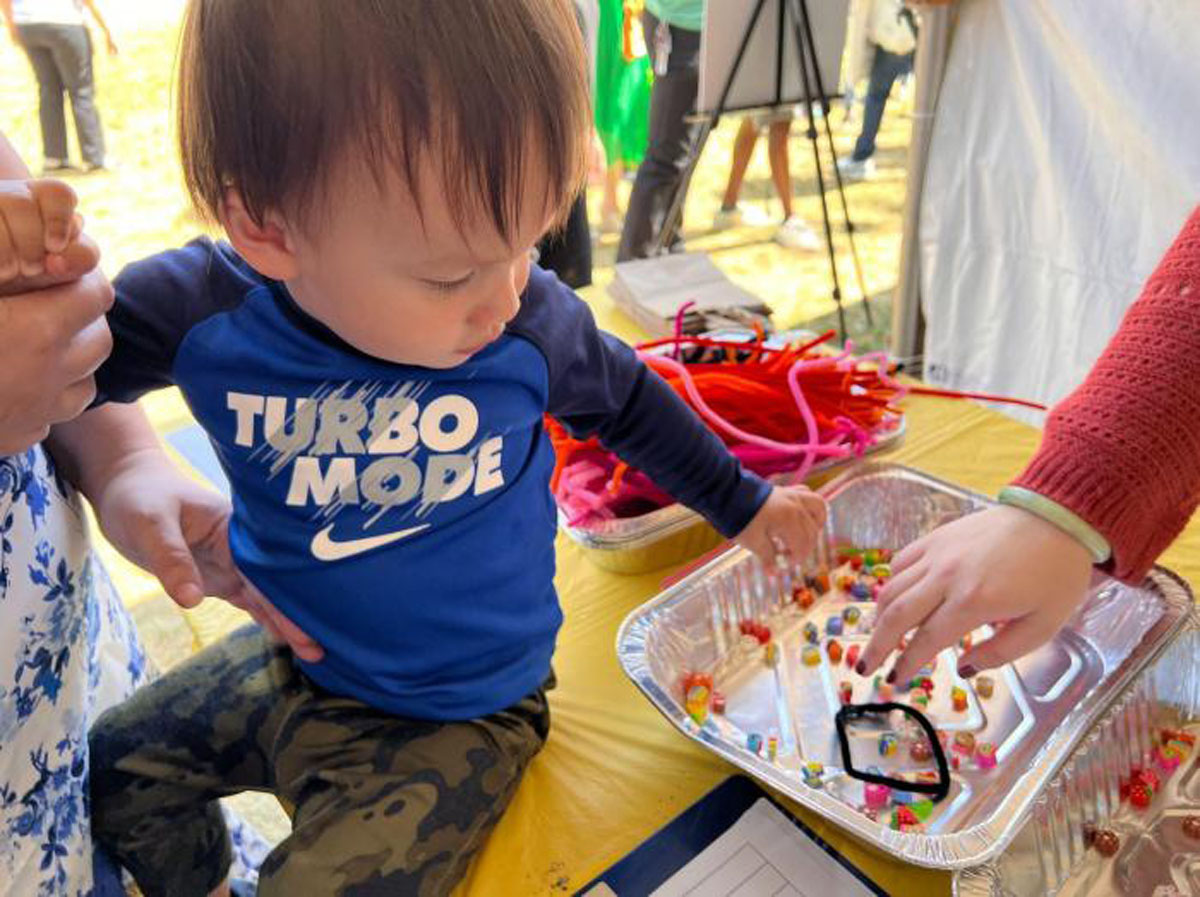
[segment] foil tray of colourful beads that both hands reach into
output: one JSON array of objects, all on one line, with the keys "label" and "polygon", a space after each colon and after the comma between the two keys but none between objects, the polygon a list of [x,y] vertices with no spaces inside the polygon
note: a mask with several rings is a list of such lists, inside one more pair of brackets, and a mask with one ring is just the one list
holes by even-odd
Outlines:
[{"label": "foil tray of colourful beads that both hands reach into", "polygon": [[[992,673],[990,697],[978,679],[958,678],[958,649],[943,651],[930,673],[935,687],[925,712],[952,745],[959,733],[991,742],[997,765],[988,770],[973,759],[964,761],[952,773],[948,797],[920,826],[899,831],[888,824],[887,813],[875,819],[865,812],[864,787],[842,770],[834,728],[842,684],[850,684],[856,704],[876,700],[877,685],[858,676],[845,660],[834,663],[823,634],[830,618],[845,620],[844,612],[854,606],[859,619],[845,626],[838,640],[847,654],[852,645],[865,645],[874,604],[852,601],[835,586],[802,609],[794,589],[834,561],[840,547],[896,550],[989,501],[884,464],[860,465],[823,493],[829,520],[814,558],[788,570],[768,570],[740,548],[721,553],[625,619],[617,637],[620,663],[686,735],[863,841],[923,866],[985,863],[1018,836],[1024,817],[1045,799],[1046,785],[1085,734],[1184,628],[1192,596],[1160,570],[1136,589],[1098,582],[1055,640]],[[844,572],[834,570],[834,582]],[[802,661],[809,622],[822,632],[816,666]],[[774,662],[769,649],[742,633],[750,624],[769,626],[770,644],[778,646]],[[725,698],[724,712],[701,714],[698,722],[688,712],[683,687],[696,673],[710,674]],[[962,710],[952,708],[956,688],[966,698]],[[752,745],[751,735],[763,745],[774,739],[774,758],[762,745]],[[900,735],[904,746],[906,736]],[[877,746],[878,736],[854,732],[852,739],[854,763],[862,767],[857,752]],[[889,776],[914,769],[907,749],[875,761]],[[806,783],[810,763],[823,766],[820,777],[809,776],[817,787]]]}]

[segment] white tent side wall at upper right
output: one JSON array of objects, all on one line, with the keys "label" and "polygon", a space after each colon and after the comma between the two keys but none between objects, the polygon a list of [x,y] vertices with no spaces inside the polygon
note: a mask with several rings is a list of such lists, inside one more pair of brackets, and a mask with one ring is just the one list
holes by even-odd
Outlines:
[{"label": "white tent side wall at upper right", "polygon": [[1196,0],[961,0],[898,300],[902,325],[919,285],[928,380],[1054,403],[1084,378],[1200,203],[1198,85]]}]

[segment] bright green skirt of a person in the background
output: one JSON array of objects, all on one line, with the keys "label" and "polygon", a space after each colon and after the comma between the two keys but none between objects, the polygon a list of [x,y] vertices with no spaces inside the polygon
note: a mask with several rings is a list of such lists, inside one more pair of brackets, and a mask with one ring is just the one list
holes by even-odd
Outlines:
[{"label": "bright green skirt of a person in the background", "polygon": [[649,56],[625,61],[623,23],[623,0],[600,0],[594,116],[608,164],[622,162],[636,168],[649,140],[654,73]]}]

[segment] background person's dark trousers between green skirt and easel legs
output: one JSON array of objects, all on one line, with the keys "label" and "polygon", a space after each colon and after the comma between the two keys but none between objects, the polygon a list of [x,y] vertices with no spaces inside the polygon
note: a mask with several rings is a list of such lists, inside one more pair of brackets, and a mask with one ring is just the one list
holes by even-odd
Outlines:
[{"label": "background person's dark trousers between green skirt and easel legs", "polygon": [[664,52],[662,42],[658,40],[661,34],[670,34],[670,52],[666,72],[656,73],[650,92],[649,145],[629,197],[620,248],[617,251],[618,261],[646,258],[653,252],[671,199],[688,171],[700,132],[698,122],[688,121],[688,115],[696,108],[700,88],[700,32],[670,28],[656,34],[659,24],[649,12],[642,19],[646,42],[655,54],[656,72],[662,71],[658,59],[658,54]]}]

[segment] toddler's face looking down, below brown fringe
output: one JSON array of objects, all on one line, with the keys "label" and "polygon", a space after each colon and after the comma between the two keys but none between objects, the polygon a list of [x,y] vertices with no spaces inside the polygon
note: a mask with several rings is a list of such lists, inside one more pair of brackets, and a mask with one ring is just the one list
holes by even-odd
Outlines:
[{"label": "toddler's face looking down, below brown fringe", "polygon": [[497,339],[552,218],[541,182],[524,192],[510,245],[482,209],[460,230],[430,165],[420,212],[400,176],[383,191],[370,176],[344,181],[313,233],[293,235],[299,275],[288,289],[301,308],[356,349],[403,365],[451,368]]}]

